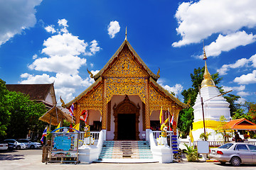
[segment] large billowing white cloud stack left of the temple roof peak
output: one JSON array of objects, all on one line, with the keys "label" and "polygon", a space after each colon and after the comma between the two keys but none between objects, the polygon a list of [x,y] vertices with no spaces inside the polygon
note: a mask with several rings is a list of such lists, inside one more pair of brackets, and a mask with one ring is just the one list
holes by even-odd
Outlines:
[{"label": "large billowing white cloud stack left of the temple roof peak", "polygon": [[[80,77],[79,69],[86,65],[87,60],[84,58],[86,55],[95,55],[101,48],[98,47],[97,40],[92,40],[90,49],[86,51],[88,43],[67,32],[67,23],[68,21],[65,19],[59,20],[58,26],[61,29],[50,25],[48,30],[50,33],[55,30],[56,35],[52,35],[43,42],[43,50],[41,51],[44,54],[43,57],[34,55],[33,57],[36,60],[28,65],[31,70],[48,72],[48,74],[34,75],[24,73],[21,74],[21,79],[23,80],[19,83],[45,84],[53,83],[54,81],[57,98],[61,95],[63,100],[68,102],[75,97],[75,93],[78,90],[84,90],[94,82],[94,79],[91,79],[89,74],[85,78]],[[48,30],[46,29],[46,31]],[[96,74],[99,71],[91,72]]]}]

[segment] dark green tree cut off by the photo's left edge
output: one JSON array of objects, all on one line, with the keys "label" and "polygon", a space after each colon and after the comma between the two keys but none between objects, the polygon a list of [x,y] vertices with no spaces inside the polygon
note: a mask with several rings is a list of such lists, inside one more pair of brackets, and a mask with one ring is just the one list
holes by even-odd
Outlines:
[{"label": "dark green tree cut off by the photo's left edge", "polygon": [[6,135],[7,125],[9,125],[10,122],[10,101],[6,100],[6,95],[8,93],[9,91],[6,89],[6,82],[0,79],[0,137]]}]

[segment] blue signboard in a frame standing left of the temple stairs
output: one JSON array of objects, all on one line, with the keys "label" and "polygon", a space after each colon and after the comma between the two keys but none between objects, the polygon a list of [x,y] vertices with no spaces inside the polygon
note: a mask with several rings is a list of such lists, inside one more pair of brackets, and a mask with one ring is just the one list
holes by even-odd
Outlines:
[{"label": "blue signboard in a frame standing left of the temple stairs", "polygon": [[77,157],[78,133],[53,132],[51,157]]}]

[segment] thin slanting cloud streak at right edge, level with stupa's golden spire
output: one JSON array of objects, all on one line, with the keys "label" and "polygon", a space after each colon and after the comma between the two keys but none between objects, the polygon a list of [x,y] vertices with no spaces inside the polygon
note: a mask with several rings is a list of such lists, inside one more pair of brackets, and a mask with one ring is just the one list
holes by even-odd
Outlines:
[{"label": "thin slanting cloud streak at right edge, level with stupa's golden spire", "polygon": [[242,58],[240,60],[237,60],[234,64],[223,64],[220,69],[217,70],[217,72],[220,75],[228,74],[227,72],[230,69],[236,69],[241,67],[256,67],[256,55],[252,55],[249,59]]}]

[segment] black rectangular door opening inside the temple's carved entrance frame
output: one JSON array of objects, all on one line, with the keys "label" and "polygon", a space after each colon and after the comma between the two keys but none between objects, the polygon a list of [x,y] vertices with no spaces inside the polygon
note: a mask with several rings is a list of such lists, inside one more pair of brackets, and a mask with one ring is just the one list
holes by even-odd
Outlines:
[{"label": "black rectangular door opening inside the temple's carved entrance frame", "polygon": [[117,140],[136,140],[136,114],[118,114]]}]

